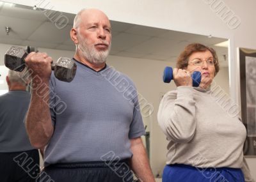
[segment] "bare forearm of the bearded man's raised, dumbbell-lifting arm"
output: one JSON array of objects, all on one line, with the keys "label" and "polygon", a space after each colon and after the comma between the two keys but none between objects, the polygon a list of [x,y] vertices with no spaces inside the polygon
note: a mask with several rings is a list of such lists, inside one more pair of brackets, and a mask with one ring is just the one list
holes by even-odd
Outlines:
[{"label": "bare forearm of the bearded man's raised, dumbbell-lifting arm", "polygon": [[51,139],[53,126],[49,110],[49,87],[47,84],[45,87],[39,86],[38,89],[33,89],[26,116],[26,130],[31,145],[35,148],[44,147]]}]

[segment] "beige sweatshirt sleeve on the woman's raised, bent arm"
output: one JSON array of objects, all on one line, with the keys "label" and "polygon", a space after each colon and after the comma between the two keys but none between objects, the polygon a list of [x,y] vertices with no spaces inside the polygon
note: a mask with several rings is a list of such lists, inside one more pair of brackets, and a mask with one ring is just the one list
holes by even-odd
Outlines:
[{"label": "beige sweatshirt sleeve on the woman's raised, bent arm", "polygon": [[168,139],[185,143],[195,134],[193,87],[180,86],[164,95],[157,114],[159,126]]}]

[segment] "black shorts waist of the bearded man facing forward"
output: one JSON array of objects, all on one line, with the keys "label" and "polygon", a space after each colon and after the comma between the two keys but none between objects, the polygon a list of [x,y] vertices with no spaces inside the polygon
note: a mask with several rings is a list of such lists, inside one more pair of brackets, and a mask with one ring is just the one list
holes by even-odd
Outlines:
[{"label": "black shorts waist of the bearded man facing forward", "polygon": [[134,182],[128,161],[58,163],[45,167],[40,182]]}]

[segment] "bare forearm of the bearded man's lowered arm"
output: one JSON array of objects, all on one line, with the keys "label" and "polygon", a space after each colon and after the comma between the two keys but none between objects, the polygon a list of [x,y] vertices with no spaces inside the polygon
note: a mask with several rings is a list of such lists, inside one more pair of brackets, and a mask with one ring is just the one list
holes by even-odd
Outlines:
[{"label": "bare forearm of the bearded man's lowered arm", "polygon": [[131,168],[136,176],[143,182],[154,182],[154,176],[150,169],[146,150],[143,146],[141,138],[131,140]]}]

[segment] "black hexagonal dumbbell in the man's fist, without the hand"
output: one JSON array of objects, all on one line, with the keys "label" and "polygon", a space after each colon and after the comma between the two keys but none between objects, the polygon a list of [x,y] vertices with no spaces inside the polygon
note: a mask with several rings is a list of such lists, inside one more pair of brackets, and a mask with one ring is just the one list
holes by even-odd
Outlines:
[{"label": "black hexagonal dumbbell in the man's fist, without the hand", "polygon": [[[25,58],[29,52],[35,51],[33,47],[27,47],[27,51],[22,47],[12,46],[4,54],[4,64],[10,70],[22,72],[26,67]],[[51,64],[54,75],[58,80],[71,82],[76,75],[76,63],[68,57],[60,57],[56,63]]]}]

